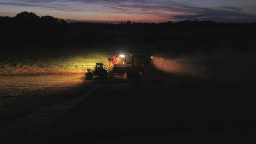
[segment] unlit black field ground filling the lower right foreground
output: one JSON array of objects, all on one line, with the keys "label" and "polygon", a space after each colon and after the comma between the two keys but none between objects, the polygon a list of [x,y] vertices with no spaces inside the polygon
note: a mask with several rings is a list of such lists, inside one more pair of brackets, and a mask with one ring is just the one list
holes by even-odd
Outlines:
[{"label": "unlit black field ground filling the lower right foreground", "polygon": [[[161,74],[161,78],[152,75]],[[41,135],[1,137],[32,144],[254,144],[255,81],[212,81],[157,70],[107,79]]]}]

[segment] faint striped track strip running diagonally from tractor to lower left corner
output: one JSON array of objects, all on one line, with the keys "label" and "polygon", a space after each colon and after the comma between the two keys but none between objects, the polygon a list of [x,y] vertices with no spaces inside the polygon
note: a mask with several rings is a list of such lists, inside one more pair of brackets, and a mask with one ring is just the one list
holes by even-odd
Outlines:
[{"label": "faint striped track strip running diagonally from tractor to lower left corner", "polygon": [[0,129],[0,137],[42,136],[44,132],[49,131],[49,129],[52,128],[53,124],[55,124],[62,115],[68,112],[100,86],[101,85],[97,85],[91,91],[74,98],[71,101],[67,101],[56,106],[41,108],[24,118],[17,119],[13,123],[10,123]]}]

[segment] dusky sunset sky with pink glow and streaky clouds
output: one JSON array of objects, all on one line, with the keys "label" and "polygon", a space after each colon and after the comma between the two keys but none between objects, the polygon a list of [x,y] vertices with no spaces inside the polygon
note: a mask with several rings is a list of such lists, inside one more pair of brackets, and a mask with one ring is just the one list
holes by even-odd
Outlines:
[{"label": "dusky sunset sky with pink glow and streaky clouds", "polygon": [[0,16],[23,11],[80,21],[256,22],[256,0],[0,0]]}]

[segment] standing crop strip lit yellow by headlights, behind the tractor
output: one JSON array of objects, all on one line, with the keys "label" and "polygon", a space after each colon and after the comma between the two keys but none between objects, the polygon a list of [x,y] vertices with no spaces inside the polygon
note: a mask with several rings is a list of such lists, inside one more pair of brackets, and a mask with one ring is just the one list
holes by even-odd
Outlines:
[{"label": "standing crop strip lit yellow by headlights, behind the tractor", "polygon": [[108,58],[112,56],[104,48],[8,51],[0,54],[0,76],[84,74],[95,62],[104,62],[111,69]]}]

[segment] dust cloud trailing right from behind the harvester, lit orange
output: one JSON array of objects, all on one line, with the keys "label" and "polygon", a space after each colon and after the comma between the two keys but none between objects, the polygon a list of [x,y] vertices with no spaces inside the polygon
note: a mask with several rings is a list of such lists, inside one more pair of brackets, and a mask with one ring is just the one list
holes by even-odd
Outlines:
[{"label": "dust cloud trailing right from behind the harvester, lit orange", "polygon": [[256,79],[255,50],[218,48],[208,53],[194,52],[175,57],[158,53],[153,61],[156,68],[167,73],[205,79]]}]

